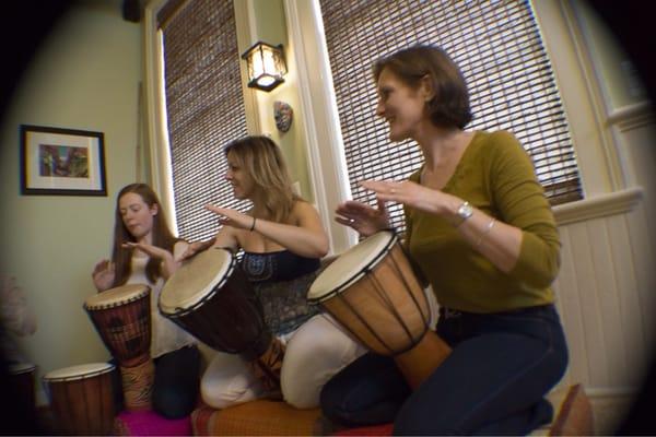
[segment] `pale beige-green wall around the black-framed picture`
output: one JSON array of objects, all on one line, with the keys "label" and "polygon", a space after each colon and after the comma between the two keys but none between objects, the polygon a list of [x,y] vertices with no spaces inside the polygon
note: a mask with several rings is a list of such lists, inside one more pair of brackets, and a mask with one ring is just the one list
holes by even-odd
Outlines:
[{"label": "pale beige-green wall around the black-framed picture", "polygon": [[[36,314],[20,346],[39,376],[108,358],[82,304],[94,263],[109,255],[116,192],[136,177],[140,79],[139,24],[122,20],[120,1],[80,3],[44,40],[2,120],[1,273]],[[21,196],[21,123],[104,132],[108,196]]]}]

